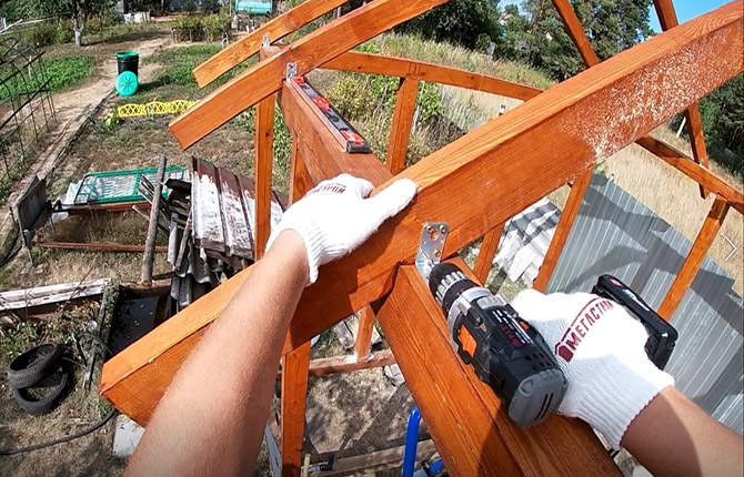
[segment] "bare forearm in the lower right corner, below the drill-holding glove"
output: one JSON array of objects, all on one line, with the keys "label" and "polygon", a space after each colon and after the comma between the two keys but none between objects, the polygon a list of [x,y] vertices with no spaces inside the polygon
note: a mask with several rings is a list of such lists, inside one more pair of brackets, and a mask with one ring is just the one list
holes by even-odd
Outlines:
[{"label": "bare forearm in the lower right corner, below the drill-holding glove", "polygon": [[741,476],[742,437],[670,386],[631,423],[622,440],[646,469],[662,476]]}]

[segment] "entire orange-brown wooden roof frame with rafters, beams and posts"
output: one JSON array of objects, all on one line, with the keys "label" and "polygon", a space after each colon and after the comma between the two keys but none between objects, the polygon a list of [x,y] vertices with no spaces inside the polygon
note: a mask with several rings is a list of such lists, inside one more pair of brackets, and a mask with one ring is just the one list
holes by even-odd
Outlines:
[{"label": "entire orange-brown wooden roof frame with rafters, beams and posts", "polygon": [[[591,58],[589,42],[576,29],[577,20],[567,14],[567,2],[553,1],[582,57]],[[272,35],[281,38],[330,11],[334,8],[331,6],[340,4],[332,0],[308,0],[200,65],[194,74],[203,85],[250,55],[261,53],[259,63],[171,122],[171,131],[185,148],[244,109],[259,104],[257,181],[269,184],[270,190],[270,130],[278,101],[293,135],[293,200],[314,183],[341,172],[366,177],[374,183],[375,192],[399,177],[409,177],[419,186],[414,202],[383,224],[368,243],[323,266],[318,283],[306,288],[300,301],[282,359],[282,473],[300,475],[301,470],[304,397],[312,367],[309,341],[349,314],[363,309],[366,329],[376,312],[436,447],[453,475],[619,475],[587,426],[553,416],[535,428],[515,427],[493,393],[458,359],[449,345],[441,312],[412,267],[421,227],[429,221],[450,224],[448,256],[485,234],[474,277],[484,281],[504,222],[573,180],[571,199],[539,277],[539,282],[546,284],[594,164],[639,141],[716,194],[701,235],[662,306],[665,316],[671,316],[725,213],[730,207],[742,212],[744,197],[707,171],[700,149],[698,164],[644,134],[743,70],[738,54],[744,48],[743,2],[734,1],[671,28],[543,93],[451,68],[348,52],[444,2],[374,0],[289,48],[269,47],[259,51],[257,41],[263,34],[269,34],[270,40],[274,39]],[[666,9],[663,12],[668,16],[664,3],[667,2],[658,1],[657,8]],[[299,74],[323,67],[401,78],[388,168],[372,154],[352,155],[338,146],[313,105],[292,81],[284,80],[288,62],[296,62]],[[695,70],[701,74],[693,75]],[[406,131],[420,81],[521,95],[529,101],[405,169]],[[675,95],[674,91],[683,91],[684,95]],[[626,104],[626,100],[634,104],[631,114],[607,115],[607,111],[616,112],[617,104]],[[691,126],[694,128],[692,122]],[[263,189],[257,184],[257,194]],[[257,236],[263,240],[269,222],[261,219],[268,217],[268,207],[257,200],[257,227],[264,227],[257,231]],[[110,359],[103,368],[101,393],[124,414],[147,424],[181,363],[250,273],[251,268],[241,272]],[[362,355],[369,351],[369,334],[360,335],[356,356],[363,361]]]}]

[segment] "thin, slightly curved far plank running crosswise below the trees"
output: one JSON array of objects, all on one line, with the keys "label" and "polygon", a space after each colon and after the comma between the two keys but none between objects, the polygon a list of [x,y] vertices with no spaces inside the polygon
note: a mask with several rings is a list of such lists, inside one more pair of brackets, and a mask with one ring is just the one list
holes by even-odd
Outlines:
[{"label": "thin, slightly curved far plank running crosswise below the trees", "polygon": [[348,51],[324,63],[322,68],[409,78],[411,80],[449,84],[469,90],[500,94],[502,97],[515,98],[523,101],[530,100],[542,92],[539,88],[504,81],[499,78],[459,70],[456,68],[442,67],[405,58],[363,53],[360,51]]}]

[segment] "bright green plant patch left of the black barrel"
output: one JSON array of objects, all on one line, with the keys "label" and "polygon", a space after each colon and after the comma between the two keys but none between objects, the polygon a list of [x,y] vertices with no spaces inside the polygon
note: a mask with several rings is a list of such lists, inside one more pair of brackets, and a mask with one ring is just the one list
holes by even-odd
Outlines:
[{"label": "bright green plant patch left of the black barrel", "polygon": [[[50,79],[49,90],[53,93],[79,87],[92,77],[95,71],[93,59],[88,55],[54,58],[47,61],[44,65],[47,68],[47,77]],[[26,85],[10,82],[10,89],[0,90],[0,101],[19,93],[31,93],[41,83],[37,78],[29,81]]]}]

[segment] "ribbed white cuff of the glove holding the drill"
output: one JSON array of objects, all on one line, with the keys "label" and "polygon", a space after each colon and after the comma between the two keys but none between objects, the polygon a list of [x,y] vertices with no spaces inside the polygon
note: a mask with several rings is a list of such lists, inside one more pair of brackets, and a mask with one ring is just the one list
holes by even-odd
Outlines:
[{"label": "ribbed white cuff of the glove holding the drill", "polygon": [[610,445],[619,449],[620,442],[635,416],[674,378],[658,369],[645,355],[629,365],[616,359],[597,367],[589,390],[577,406],[576,417],[601,432]]}]

